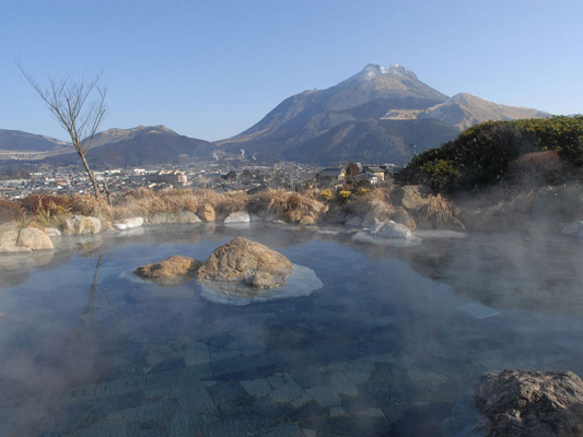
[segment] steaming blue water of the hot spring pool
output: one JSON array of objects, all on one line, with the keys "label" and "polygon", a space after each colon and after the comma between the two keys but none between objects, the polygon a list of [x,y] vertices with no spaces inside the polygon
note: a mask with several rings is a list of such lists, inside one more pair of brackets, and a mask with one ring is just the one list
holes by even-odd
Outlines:
[{"label": "steaming blue water of the hot spring pool", "polygon": [[[576,240],[390,247],[269,225],[140,232],[0,259],[0,435],[455,436],[477,418],[471,388],[485,371],[583,375]],[[226,305],[196,281],[131,274],[171,255],[206,259],[237,235],[323,287]]]}]

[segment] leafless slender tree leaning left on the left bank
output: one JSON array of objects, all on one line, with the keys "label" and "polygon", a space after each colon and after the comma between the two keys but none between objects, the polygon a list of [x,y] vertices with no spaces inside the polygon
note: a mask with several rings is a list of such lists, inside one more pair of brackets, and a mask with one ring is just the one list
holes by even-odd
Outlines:
[{"label": "leafless slender tree leaning left on the left bank", "polygon": [[19,61],[16,66],[71,138],[72,145],[93,185],[95,198],[98,198],[100,189],[89,167],[86,154],[93,145],[93,138],[106,113],[107,88],[102,84],[102,73],[97,73],[93,79],[86,79],[84,73],[78,79],[73,74],[62,79],[49,75],[48,87],[43,88]]}]

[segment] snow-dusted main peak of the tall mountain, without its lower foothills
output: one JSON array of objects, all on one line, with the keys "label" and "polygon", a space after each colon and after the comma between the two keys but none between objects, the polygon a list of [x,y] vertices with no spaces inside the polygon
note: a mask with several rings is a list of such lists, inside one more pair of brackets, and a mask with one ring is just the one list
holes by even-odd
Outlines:
[{"label": "snow-dusted main peak of the tall mountain, without its lower foothills", "polygon": [[268,141],[294,143],[312,139],[346,121],[378,119],[387,108],[425,109],[447,96],[419,81],[405,67],[371,63],[327,90],[312,90],[283,101],[263,120],[219,145]]}]

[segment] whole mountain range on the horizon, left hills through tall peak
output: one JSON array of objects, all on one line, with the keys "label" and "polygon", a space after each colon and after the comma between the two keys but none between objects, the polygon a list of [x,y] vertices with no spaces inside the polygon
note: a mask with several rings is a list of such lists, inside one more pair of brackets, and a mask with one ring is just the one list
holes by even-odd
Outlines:
[{"label": "whole mountain range on the horizon, left hills through tall peak", "polygon": [[[246,156],[261,161],[405,163],[413,151],[436,147],[481,121],[548,116],[467,93],[448,97],[405,67],[371,63],[335,86],[284,99],[255,126],[214,144],[164,126],[109,129],[95,135],[88,160],[97,167],[177,164],[189,157],[211,160],[218,149],[237,155],[244,149]],[[53,155],[67,150],[66,143],[46,137],[0,130],[0,151],[25,151],[27,144]],[[48,160],[78,164],[72,153]]]}]

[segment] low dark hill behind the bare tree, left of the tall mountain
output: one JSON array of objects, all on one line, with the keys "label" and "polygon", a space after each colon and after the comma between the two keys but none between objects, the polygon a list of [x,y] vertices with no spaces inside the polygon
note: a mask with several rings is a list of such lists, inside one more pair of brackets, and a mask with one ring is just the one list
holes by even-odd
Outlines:
[{"label": "low dark hill behind the bare tree, left of the tall mountain", "polygon": [[[164,126],[109,129],[94,138],[88,161],[94,168],[178,164],[182,160],[210,160],[214,144],[180,135]],[[75,153],[47,160],[54,165],[78,165]]]}]

